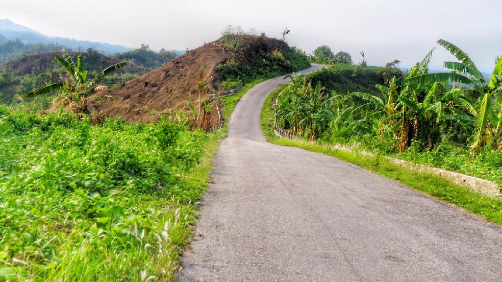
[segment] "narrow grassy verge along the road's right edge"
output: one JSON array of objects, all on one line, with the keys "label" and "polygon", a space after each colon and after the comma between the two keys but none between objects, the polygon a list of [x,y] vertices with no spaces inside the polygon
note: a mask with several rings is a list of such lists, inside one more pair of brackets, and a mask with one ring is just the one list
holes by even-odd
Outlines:
[{"label": "narrow grassy verge along the road's right edge", "polygon": [[277,145],[292,146],[312,152],[326,154],[355,164],[376,174],[396,180],[408,187],[424,192],[438,200],[457,205],[480,215],[485,219],[502,225],[502,200],[475,193],[467,188],[454,185],[436,175],[412,171],[394,165],[382,156],[363,156],[349,152],[333,150],[327,146],[312,144],[302,139],[284,139],[274,133],[273,101],[279,90],[269,95],[262,109],[262,128],[267,139]]}]

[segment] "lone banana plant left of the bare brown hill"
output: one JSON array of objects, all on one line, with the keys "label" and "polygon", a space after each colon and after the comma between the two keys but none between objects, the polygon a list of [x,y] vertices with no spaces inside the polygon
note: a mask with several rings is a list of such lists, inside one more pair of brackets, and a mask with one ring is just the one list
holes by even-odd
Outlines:
[{"label": "lone banana plant left of the bare brown hill", "polygon": [[84,70],[82,64],[82,56],[80,54],[77,57],[76,65],[70,54],[66,50],[62,51],[62,57],[55,55],[54,59],[68,72],[69,80],[66,82],[44,85],[25,94],[26,97],[34,97],[37,95],[53,93],[64,89],[65,92],[68,92],[65,94],[71,94],[72,96],[74,96],[72,98],[80,99],[81,96],[88,96],[89,94],[91,94],[97,86],[97,83],[103,77],[127,65],[127,61],[111,65],[100,71],[91,80],[88,80],[87,71]]}]

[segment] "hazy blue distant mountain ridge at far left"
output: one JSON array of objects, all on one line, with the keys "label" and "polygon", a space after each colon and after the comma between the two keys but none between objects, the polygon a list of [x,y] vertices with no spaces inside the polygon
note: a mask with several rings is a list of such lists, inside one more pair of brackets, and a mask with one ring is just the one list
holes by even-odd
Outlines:
[{"label": "hazy blue distant mountain ridge at far left", "polygon": [[108,43],[91,42],[91,41],[76,40],[63,37],[51,37],[41,34],[28,27],[13,23],[9,19],[4,19],[4,20],[0,19],[0,43],[6,42],[8,40],[19,41],[24,44],[54,43],[68,46],[75,50],[77,50],[78,48],[81,48],[82,50],[87,50],[88,48],[92,48],[100,53],[107,55],[133,50],[133,48],[123,47],[121,45],[111,45]]}]

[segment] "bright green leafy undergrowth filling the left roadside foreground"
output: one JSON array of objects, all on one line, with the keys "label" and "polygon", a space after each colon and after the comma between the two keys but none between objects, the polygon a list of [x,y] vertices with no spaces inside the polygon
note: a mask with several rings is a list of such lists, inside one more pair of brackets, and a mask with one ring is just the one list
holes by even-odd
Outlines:
[{"label": "bright green leafy undergrowth filling the left roadside foreground", "polygon": [[0,131],[0,280],[172,279],[207,133],[3,106]]}]

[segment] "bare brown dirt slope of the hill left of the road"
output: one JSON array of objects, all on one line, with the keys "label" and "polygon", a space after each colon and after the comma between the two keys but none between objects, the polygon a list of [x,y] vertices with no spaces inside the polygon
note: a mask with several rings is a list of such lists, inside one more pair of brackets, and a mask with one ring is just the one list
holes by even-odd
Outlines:
[{"label": "bare brown dirt slope of the hill left of the road", "polygon": [[204,44],[146,75],[89,97],[87,109],[131,122],[155,122],[169,110],[188,110],[187,101],[198,105],[199,80],[205,85],[203,100],[217,93],[221,82],[216,70],[219,64],[234,58],[253,68],[254,59],[260,55],[274,50],[290,52],[285,42],[265,36],[239,36],[238,41],[240,48],[236,49],[226,48],[229,42],[222,39]]}]

